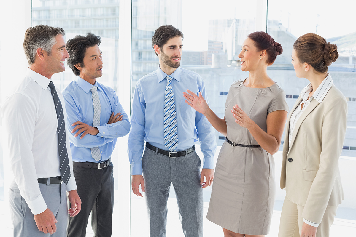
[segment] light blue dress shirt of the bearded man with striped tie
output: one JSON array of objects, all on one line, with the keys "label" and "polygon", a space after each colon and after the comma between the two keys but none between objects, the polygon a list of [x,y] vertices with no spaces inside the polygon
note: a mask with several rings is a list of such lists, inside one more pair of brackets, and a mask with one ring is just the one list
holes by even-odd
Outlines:
[{"label": "light blue dress shirt of the bearded man with striped tie", "polygon": [[[131,163],[131,175],[142,174],[141,158],[145,141],[168,151],[164,146],[164,91],[168,76],[158,69],[138,80],[132,102],[131,131],[127,152]],[[207,100],[203,79],[197,73],[177,68],[171,75],[176,103],[178,147],[175,151],[184,151],[200,141],[204,153],[203,168],[214,168],[216,151],[215,131],[208,119],[185,103],[183,91],[187,89],[199,93]]]}]

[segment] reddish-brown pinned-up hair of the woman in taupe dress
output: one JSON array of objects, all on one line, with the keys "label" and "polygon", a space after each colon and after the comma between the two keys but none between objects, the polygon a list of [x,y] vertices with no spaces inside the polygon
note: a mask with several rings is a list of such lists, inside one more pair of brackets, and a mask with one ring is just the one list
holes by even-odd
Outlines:
[{"label": "reddish-brown pinned-up hair of the woman in taupe dress", "polygon": [[255,47],[258,51],[266,50],[268,60],[267,64],[271,65],[276,60],[278,55],[283,52],[282,45],[274,41],[274,39],[263,31],[256,31],[247,36],[255,42]]}]

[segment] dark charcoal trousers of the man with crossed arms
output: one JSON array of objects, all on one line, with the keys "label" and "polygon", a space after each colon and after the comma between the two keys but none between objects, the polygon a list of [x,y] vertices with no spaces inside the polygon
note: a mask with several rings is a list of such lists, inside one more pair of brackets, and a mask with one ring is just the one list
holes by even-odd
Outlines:
[{"label": "dark charcoal trousers of the man with crossed arms", "polygon": [[82,200],[78,215],[68,215],[68,237],[85,237],[89,215],[94,237],[110,237],[114,210],[114,167],[83,168],[73,163],[77,192]]}]

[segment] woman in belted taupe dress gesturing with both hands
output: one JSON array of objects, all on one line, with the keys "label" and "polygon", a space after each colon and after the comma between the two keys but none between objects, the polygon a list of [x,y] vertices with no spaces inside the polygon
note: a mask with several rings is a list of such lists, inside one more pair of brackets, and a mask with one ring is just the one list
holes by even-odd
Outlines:
[{"label": "woman in belted taupe dress gesturing with both hands", "polygon": [[284,91],[268,77],[267,66],[281,53],[281,44],[269,34],[248,35],[239,58],[249,76],[231,85],[224,119],[210,110],[200,93],[183,92],[186,103],[226,136],[207,215],[223,227],[226,237],[269,233],[275,196],[272,154],[281,144],[288,105]]}]

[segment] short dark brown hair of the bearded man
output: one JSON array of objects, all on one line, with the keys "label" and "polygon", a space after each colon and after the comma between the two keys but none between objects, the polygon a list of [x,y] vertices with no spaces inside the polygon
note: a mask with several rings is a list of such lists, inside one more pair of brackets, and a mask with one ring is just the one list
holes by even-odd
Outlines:
[{"label": "short dark brown hair of the bearded man", "polygon": [[[152,37],[152,48],[153,45],[158,45],[159,48],[162,48],[164,44],[167,43],[170,39],[180,36],[183,39],[183,32],[174,26],[160,26],[155,30],[155,34]],[[158,54],[156,53],[158,56]]]}]

